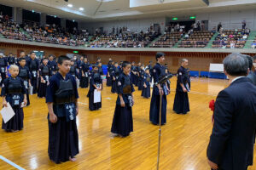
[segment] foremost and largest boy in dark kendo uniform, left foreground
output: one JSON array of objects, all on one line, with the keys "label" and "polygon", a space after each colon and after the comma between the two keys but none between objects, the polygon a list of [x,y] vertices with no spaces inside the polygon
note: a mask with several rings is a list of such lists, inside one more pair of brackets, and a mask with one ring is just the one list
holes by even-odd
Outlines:
[{"label": "foremost and largest boy in dark kendo uniform, left foreground", "polygon": [[59,71],[49,79],[46,91],[49,119],[48,154],[51,161],[75,161],[79,154],[79,133],[76,116],[79,114],[78,88],[75,78],[68,74],[70,59],[58,58]]}]

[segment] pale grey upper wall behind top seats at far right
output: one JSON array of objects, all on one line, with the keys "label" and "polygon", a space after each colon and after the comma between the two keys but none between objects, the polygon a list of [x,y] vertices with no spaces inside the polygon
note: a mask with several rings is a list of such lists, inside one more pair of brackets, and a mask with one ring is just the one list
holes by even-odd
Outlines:
[{"label": "pale grey upper wall behind top seats at far right", "polygon": [[209,30],[221,22],[224,29],[241,29],[241,22],[246,20],[247,28],[256,31],[256,10],[226,11],[218,13],[197,14],[196,20],[209,20]]}]

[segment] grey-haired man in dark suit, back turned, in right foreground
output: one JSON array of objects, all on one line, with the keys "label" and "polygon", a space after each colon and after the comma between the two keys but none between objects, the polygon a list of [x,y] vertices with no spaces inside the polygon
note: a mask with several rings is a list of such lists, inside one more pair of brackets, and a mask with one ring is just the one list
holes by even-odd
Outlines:
[{"label": "grey-haired man in dark suit, back turned, in right foreground", "polygon": [[256,131],[256,87],[246,77],[248,60],[242,54],[224,59],[230,86],[216,99],[214,124],[207,148],[208,164],[218,170],[246,170],[253,165]]}]

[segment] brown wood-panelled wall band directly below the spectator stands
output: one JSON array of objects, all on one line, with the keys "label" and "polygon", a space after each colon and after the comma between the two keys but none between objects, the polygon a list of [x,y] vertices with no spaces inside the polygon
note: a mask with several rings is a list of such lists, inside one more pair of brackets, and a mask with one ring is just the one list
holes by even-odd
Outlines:
[{"label": "brown wood-panelled wall band directly below the spectator stands", "polygon": [[[72,49],[38,47],[3,42],[0,43],[0,50],[3,51],[4,54],[12,53],[16,55],[19,55],[21,50],[25,51],[26,54],[29,54],[33,50],[44,51],[46,56],[49,54],[54,54],[55,56],[73,54]],[[156,52],[79,50],[79,54],[85,54],[90,60],[90,63],[95,63],[96,59],[100,57],[103,65],[108,64],[109,58],[112,58],[116,62],[128,60],[130,62],[135,61],[136,63],[141,62],[144,65],[148,65],[149,61],[155,63],[155,53]],[[227,54],[224,53],[166,52],[166,63],[170,71],[174,73],[180,66],[181,59],[187,58],[189,59],[189,69],[191,71],[208,71],[210,63],[222,63],[225,56],[227,56]]]}]

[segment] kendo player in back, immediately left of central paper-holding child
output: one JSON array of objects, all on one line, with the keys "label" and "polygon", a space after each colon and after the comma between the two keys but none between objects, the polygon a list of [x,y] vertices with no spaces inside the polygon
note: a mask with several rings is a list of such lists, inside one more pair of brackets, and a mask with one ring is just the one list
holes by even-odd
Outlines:
[{"label": "kendo player in back, immediately left of central paper-holding child", "polygon": [[90,63],[88,59],[84,57],[84,62],[81,65],[82,77],[80,82],[81,88],[88,88],[89,86],[89,77],[90,77]]}]

